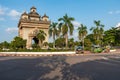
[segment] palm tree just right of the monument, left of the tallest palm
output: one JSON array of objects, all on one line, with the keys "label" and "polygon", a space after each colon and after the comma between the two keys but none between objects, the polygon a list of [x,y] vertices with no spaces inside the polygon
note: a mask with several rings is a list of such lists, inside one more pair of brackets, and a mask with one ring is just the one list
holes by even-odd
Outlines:
[{"label": "palm tree just right of the monument, left of the tallest palm", "polygon": [[55,37],[59,35],[59,31],[58,31],[58,27],[57,27],[57,24],[58,23],[52,23],[50,25],[50,28],[49,28],[49,35],[50,37],[53,36],[53,48],[55,48]]}]

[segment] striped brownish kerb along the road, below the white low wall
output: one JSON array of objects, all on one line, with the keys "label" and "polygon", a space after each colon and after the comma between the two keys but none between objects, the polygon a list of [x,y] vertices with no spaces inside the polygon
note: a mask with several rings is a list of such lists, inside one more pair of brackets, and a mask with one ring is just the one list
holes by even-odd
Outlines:
[{"label": "striped brownish kerb along the road, below the white low wall", "polygon": [[[34,52],[33,52],[34,53]],[[12,56],[12,57],[43,57],[43,56],[102,56],[102,55],[114,55],[114,54],[120,54],[120,52],[115,52],[115,53],[98,53],[98,54],[75,54],[75,53],[67,53],[67,54],[16,54],[16,53],[1,53],[0,52],[0,56],[2,57],[9,57],[9,56]]]}]

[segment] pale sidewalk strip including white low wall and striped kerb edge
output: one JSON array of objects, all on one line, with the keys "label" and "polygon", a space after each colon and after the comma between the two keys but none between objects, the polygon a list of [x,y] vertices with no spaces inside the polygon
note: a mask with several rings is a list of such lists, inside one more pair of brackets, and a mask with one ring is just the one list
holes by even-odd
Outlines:
[{"label": "pale sidewalk strip including white low wall and striped kerb edge", "polygon": [[75,51],[72,52],[0,52],[0,56],[54,56],[54,55],[60,55],[60,56],[84,56],[84,55],[109,55],[109,54],[120,54],[120,49],[117,49],[116,51],[112,51],[109,53],[91,53],[89,51],[86,51],[84,54],[76,54]]}]

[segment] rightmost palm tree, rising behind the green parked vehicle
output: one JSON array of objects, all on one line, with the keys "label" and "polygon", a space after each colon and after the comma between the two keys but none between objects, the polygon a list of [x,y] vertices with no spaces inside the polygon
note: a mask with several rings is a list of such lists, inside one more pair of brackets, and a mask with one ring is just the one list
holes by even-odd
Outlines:
[{"label": "rightmost palm tree, rising behind the green parked vehicle", "polygon": [[100,20],[94,21],[96,27],[92,27],[90,30],[93,32],[94,39],[97,45],[100,45],[101,40],[103,39],[104,25],[100,23]]}]

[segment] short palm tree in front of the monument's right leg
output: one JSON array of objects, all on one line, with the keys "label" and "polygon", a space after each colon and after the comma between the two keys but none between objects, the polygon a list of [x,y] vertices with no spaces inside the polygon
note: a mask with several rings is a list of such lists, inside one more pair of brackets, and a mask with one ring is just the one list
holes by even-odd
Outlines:
[{"label": "short palm tree in front of the monument's right leg", "polygon": [[39,46],[42,47],[43,41],[45,40],[46,33],[42,30],[39,30],[39,32],[36,35],[36,38],[39,40]]}]

